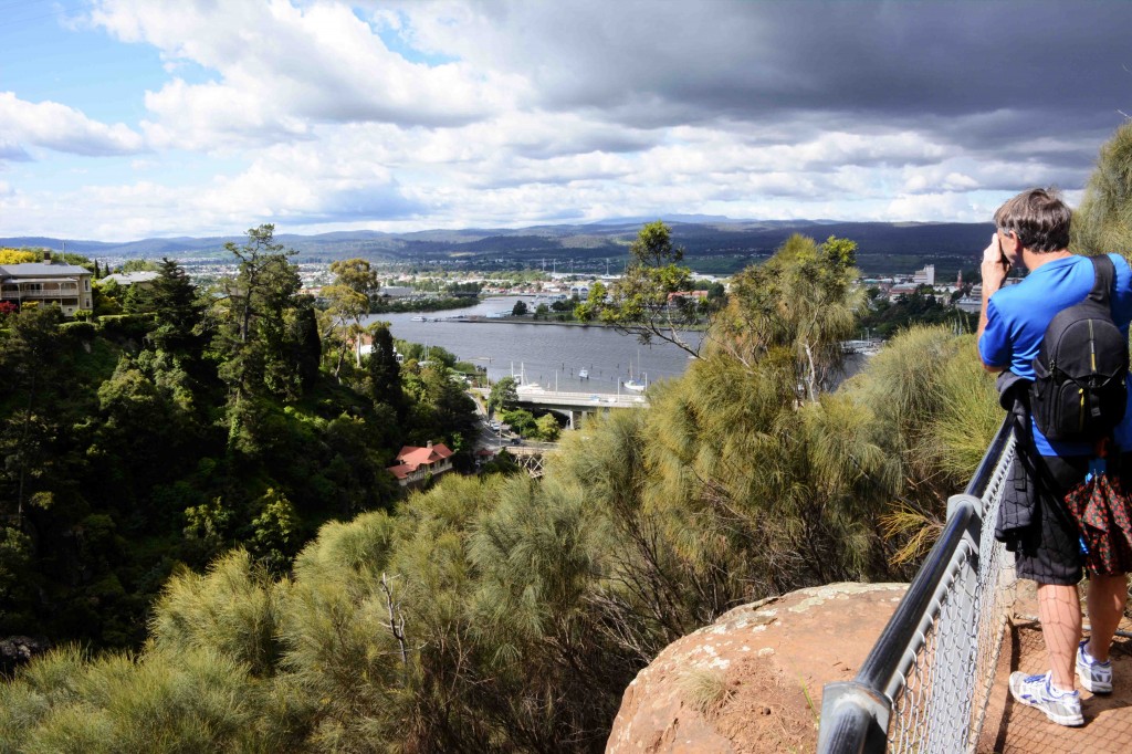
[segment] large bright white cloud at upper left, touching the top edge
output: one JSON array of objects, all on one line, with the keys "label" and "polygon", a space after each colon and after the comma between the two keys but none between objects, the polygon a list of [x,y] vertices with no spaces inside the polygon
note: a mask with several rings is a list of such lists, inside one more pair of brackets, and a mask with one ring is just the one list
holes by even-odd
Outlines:
[{"label": "large bright white cloud at upper left, touching the top edge", "polygon": [[314,123],[472,122],[525,96],[522,76],[410,62],[342,3],[103,0],[91,22],[216,79],[146,95],[149,138],[204,149],[302,138]]}]

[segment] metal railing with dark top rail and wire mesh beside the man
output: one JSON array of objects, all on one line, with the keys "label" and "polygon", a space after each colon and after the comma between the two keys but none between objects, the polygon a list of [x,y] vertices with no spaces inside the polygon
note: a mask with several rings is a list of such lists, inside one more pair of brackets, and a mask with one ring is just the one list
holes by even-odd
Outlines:
[{"label": "metal railing with dark top rail and wire mesh beside the man", "polygon": [[818,752],[975,749],[1017,596],[994,539],[1013,457],[1003,422],[857,676],[825,685]]}]

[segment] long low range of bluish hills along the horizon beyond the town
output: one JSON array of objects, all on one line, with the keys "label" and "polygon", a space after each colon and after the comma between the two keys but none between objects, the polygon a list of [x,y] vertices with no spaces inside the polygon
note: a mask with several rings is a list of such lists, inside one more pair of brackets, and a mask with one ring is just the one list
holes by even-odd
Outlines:
[{"label": "long low range of bluish hills along the horizon beyond the town", "polygon": [[[362,257],[374,263],[414,267],[539,267],[594,272],[619,271],[644,222],[623,217],[584,225],[521,229],[426,230],[410,233],[338,231],[316,235],[280,233],[275,240],[298,251],[299,262]],[[875,223],[830,220],[744,221],[710,215],[666,219],[684,262],[701,273],[726,274],[765,259],[792,233],[822,241],[830,235],[858,243],[858,266],[866,274],[910,273],[935,264],[936,274],[974,269],[990,232],[989,223]],[[226,260],[224,243],[245,237],[148,238],[129,242],[45,237],[0,238],[0,247],[45,247],[92,258],[161,257],[183,262]]]}]

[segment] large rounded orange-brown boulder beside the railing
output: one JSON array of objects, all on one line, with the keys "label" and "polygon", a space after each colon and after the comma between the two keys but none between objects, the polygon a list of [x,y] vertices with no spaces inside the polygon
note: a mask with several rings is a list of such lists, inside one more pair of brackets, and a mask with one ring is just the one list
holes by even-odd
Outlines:
[{"label": "large rounded orange-brown boulder beside the railing", "polygon": [[629,684],[606,751],[814,751],[822,686],[852,678],[906,588],[829,584],[724,614]]}]

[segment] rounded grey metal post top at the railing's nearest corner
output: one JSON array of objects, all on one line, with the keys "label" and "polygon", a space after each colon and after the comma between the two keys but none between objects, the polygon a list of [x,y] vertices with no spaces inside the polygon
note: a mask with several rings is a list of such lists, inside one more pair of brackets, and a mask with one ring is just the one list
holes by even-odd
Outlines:
[{"label": "rounded grey metal post top at the railing's nearest corner", "polygon": [[887,746],[892,702],[856,680],[825,684],[822,723],[817,730],[821,754],[878,754]]}]

